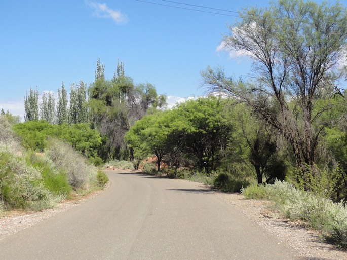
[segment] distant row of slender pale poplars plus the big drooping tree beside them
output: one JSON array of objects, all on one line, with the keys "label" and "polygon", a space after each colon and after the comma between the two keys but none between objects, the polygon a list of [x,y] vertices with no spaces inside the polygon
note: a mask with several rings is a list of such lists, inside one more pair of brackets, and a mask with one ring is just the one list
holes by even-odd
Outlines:
[{"label": "distant row of slender pale poplars plus the big drooping tree beside them", "polygon": [[52,91],[43,93],[41,100],[39,96],[37,87],[26,94],[25,122],[44,120],[52,125],[88,124],[101,135],[97,156],[103,161],[128,159],[132,151],[124,142],[125,133],[148,109],[166,105],[166,96],[158,95],[153,85],[135,85],[130,77],[125,76],[123,62],[118,61],[113,78],[106,80],[105,66],[100,59],[96,63],[95,81],[89,87],[82,80],[71,84],[68,99],[63,82],[58,88],[57,101]]}]

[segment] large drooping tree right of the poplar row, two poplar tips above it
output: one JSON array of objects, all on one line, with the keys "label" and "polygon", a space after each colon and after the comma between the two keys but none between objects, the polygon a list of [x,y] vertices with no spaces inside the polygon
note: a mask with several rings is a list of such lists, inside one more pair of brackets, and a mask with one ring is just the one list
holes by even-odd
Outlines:
[{"label": "large drooping tree right of the poplar row, two poplar tips above it", "polygon": [[[103,75],[104,66],[97,62],[96,76]],[[101,71],[101,72],[98,72]],[[130,77],[125,76],[124,64],[117,64],[117,73],[112,80],[96,77],[88,89],[90,118],[103,136],[104,160],[125,159],[128,147],[124,135],[135,122],[141,119],[149,108],[165,103],[165,98],[157,95],[151,84],[136,86]],[[130,146],[130,158],[133,158]]]}]

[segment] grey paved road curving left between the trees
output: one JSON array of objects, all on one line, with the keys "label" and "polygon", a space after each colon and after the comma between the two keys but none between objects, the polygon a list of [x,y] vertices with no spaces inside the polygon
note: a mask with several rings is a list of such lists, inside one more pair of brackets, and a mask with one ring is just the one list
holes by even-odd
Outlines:
[{"label": "grey paved road curving left between the trees", "polygon": [[99,196],[0,241],[0,259],[303,259],[194,183],[108,176]]}]

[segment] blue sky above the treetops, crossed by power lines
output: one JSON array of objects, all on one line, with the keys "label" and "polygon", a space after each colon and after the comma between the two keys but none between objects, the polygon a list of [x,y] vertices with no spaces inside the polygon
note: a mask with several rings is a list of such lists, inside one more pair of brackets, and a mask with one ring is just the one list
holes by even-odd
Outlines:
[{"label": "blue sky above the treetops, crossed by power lines", "polygon": [[[0,108],[24,114],[30,88],[54,91],[62,81],[69,89],[79,80],[94,81],[96,61],[111,79],[117,59],[135,83],[151,83],[170,101],[199,96],[200,71],[225,67],[229,75],[247,72],[247,59],[230,59],[218,51],[227,24],[236,17],[197,12],[163,0],[3,0],[0,2]],[[238,11],[265,7],[268,1],[177,0],[176,2]],[[173,8],[162,5],[176,6]]]}]

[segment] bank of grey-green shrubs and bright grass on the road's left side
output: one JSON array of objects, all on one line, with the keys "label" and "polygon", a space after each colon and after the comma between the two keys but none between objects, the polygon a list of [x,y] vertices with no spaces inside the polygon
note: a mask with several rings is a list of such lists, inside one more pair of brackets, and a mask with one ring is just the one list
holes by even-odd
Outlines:
[{"label": "bank of grey-green shrubs and bright grass on the road's left side", "polygon": [[48,140],[43,151],[26,150],[9,119],[0,116],[0,213],[52,208],[107,183],[107,175],[98,177],[97,168],[62,140]]}]

